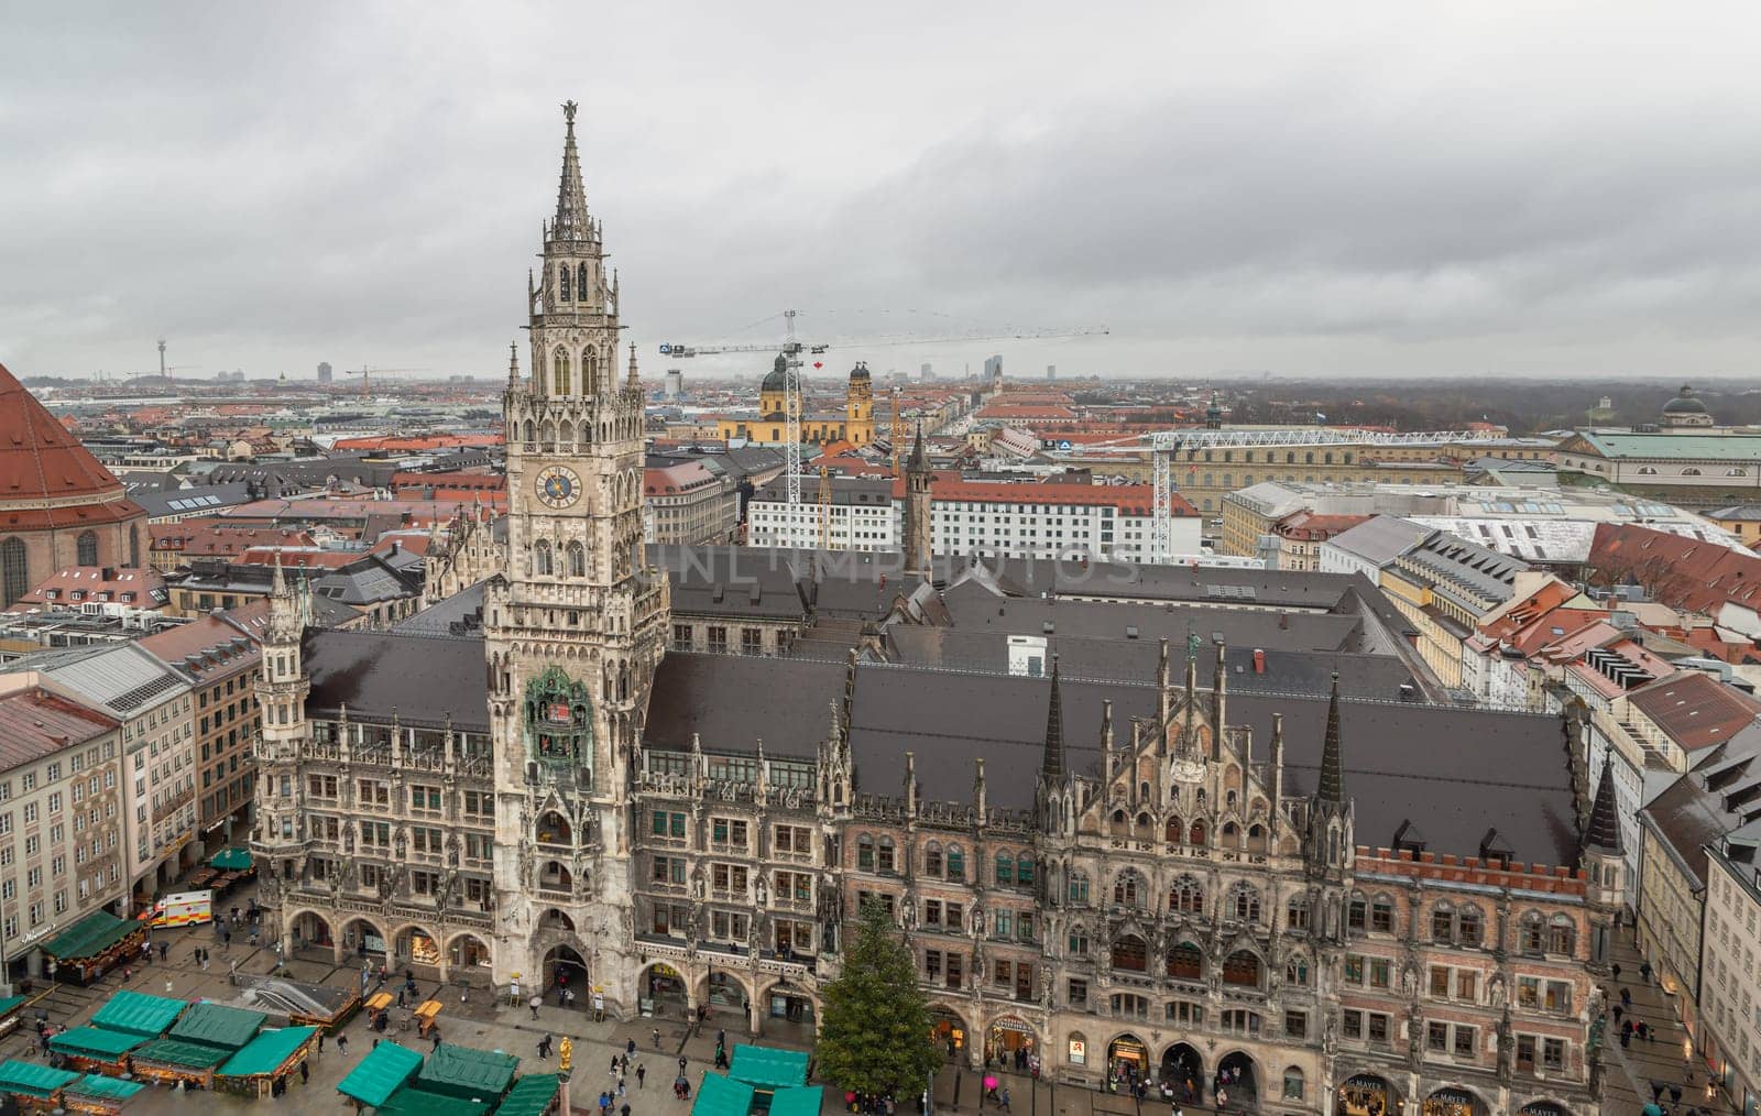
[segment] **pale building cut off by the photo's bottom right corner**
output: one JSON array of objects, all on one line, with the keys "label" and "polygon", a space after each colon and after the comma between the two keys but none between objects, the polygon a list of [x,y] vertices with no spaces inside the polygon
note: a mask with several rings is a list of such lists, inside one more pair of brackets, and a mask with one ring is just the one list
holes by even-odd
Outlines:
[{"label": "pale building cut off by the photo's bottom right corner", "polygon": [[1738,1112],[1761,1109],[1761,826],[1706,845],[1699,1054]]}]

